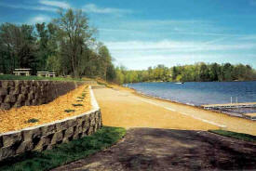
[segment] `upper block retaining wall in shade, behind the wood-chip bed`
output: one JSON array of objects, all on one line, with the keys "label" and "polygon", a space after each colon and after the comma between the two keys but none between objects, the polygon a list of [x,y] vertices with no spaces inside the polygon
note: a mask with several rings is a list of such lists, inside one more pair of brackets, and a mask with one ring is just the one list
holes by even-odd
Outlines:
[{"label": "upper block retaining wall in shade, behind the wood-chip bed", "polygon": [[41,105],[52,101],[85,82],[0,81],[0,109]]}]

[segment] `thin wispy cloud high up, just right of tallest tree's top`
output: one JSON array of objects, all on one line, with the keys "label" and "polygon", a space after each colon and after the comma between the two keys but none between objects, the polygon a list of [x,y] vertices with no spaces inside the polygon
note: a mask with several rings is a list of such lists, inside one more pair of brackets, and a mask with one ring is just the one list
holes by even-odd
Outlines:
[{"label": "thin wispy cloud high up, just right of tallest tree's top", "polygon": [[88,13],[98,13],[98,14],[122,14],[130,13],[131,10],[128,9],[119,9],[113,7],[97,7],[95,4],[88,4],[83,7],[84,12]]}]

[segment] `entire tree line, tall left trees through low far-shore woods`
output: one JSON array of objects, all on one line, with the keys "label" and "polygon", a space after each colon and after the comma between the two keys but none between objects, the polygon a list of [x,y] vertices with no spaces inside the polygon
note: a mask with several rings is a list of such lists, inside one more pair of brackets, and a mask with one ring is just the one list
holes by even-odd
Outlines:
[{"label": "entire tree line, tall left trees through low far-shore woods", "polygon": [[82,10],[60,10],[49,23],[0,25],[0,72],[11,74],[16,68],[30,68],[32,73],[57,72],[73,77],[101,77],[122,85],[154,81],[244,81],[256,80],[249,65],[203,62],[194,65],[164,65],[147,70],[128,71],[115,67],[107,48],[97,41],[97,30],[88,24]]}]

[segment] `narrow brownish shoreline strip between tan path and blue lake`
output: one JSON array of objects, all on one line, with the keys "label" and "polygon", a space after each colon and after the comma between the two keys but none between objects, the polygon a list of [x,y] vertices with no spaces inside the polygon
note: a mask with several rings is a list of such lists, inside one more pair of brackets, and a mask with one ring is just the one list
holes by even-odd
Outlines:
[{"label": "narrow brownish shoreline strip between tan path and blue lake", "polygon": [[132,93],[134,95],[137,95],[137,96],[140,96],[140,97],[143,97],[143,98],[157,99],[157,100],[160,100],[160,101],[165,101],[165,102],[174,103],[174,104],[178,104],[178,105],[193,107],[193,108],[200,109],[200,110],[207,111],[207,112],[215,112],[215,113],[218,113],[218,114],[224,114],[224,115],[228,115],[228,116],[231,116],[231,117],[242,118],[242,119],[246,119],[246,120],[249,120],[249,121],[256,121],[256,120],[253,120],[253,119],[250,119],[250,118],[246,117],[244,115],[245,113],[225,112],[225,111],[221,111],[221,110],[220,111],[219,110],[206,110],[203,107],[198,106],[198,105],[194,105],[194,104],[190,104],[190,103],[182,103],[180,101],[175,101],[175,100],[171,100],[171,99],[163,99],[163,98],[160,98],[160,97],[150,96],[150,95],[147,95],[147,94],[142,93],[140,91],[137,91],[136,89],[134,89],[132,87],[126,87],[126,86],[121,86],[121,87],[129,89],[129,90],[132,91]]}]

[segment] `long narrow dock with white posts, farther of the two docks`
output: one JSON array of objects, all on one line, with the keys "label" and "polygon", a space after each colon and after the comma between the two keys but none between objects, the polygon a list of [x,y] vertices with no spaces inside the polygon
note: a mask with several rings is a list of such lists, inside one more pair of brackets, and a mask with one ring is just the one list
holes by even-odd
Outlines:
[{"label": "long narrow dock with white posts, farther of the two docks", "polygon": [[206,110],[214,110],[214,109],[236,109],[236,108],[254,108],[256,107],[256,102],[248,102],[248,103],[227,103],[227,104],[208,104],[202,105],[202,107]]}]

